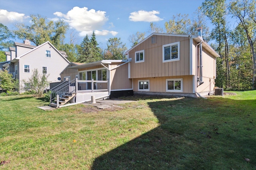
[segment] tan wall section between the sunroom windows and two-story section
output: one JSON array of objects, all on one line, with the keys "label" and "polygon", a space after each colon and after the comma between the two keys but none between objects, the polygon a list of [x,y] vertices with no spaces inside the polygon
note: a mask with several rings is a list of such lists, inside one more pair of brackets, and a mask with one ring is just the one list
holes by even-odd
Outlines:
[{"label": "tan wall section between the sunroom windows and two-story section", "polygon": [[[110,70],[122,63],[111,63]],[[128,63],[110,71],[111,90],[131,90],[132,79],[128,78]]]}]

